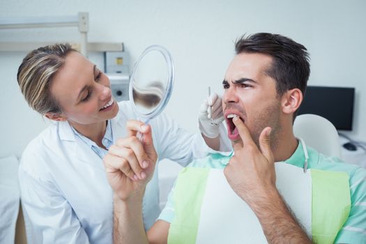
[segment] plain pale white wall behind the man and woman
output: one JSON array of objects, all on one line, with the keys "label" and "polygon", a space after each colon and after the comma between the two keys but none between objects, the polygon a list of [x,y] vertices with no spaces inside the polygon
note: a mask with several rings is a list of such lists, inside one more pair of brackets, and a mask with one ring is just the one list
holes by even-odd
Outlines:
[{"label": "plain pale white wall behind the man and woman", "polygon": [[[196,130],[207,86],[221,93],[224,71],[243,33],[281,33],[311,54],[309,84],[356,87],[354,139],[366,140],[366,1],[0,0],[0,17],[89,12],[89,41],[123,42],[134,62],[160,44],[174,57],[176,80],[167,113]],[[76,29],[0,30],[0,41],[77,40]],[[27,107],[16,82],[25,53],[0,53],[0,157],[20,155],[47,124]],[[92,61],[100,62],[98,55]]]}]

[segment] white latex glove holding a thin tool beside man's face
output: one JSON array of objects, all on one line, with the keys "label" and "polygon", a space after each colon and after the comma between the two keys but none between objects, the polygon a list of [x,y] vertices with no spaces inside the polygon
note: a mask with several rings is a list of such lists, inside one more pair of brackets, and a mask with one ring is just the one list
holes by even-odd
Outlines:
[{"label": "white latex glove holding a thin tool beside man's face", "polygon": [[[212,120],[211,120],[212,118]],[[218,94],[212,93],[204,100],[199,108],[199,130],[209,138],[218,137],[220,134],[220,124],[224,121],[222,112],[222,99]]]}]

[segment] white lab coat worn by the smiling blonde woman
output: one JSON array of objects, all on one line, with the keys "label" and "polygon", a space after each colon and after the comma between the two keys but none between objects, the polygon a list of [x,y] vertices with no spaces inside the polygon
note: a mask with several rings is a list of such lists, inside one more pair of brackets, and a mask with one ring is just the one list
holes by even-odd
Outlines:
[{"label": "white lab coat worn by the smiling blonde woman", "polygon": [[[112,119],[114,142],[126,136],[125,124],[139,119],[129,102],[119,103]],[[164,114],[150,122],[159,160],[185,166],[210,151]],[[50,125],[24,150],[19,169],[20,189],[29,243],[112,243],[112,189],[100,157],[68,122]],[[146,229],[160,213],[158,170],[146,186],[143,203]]]}]

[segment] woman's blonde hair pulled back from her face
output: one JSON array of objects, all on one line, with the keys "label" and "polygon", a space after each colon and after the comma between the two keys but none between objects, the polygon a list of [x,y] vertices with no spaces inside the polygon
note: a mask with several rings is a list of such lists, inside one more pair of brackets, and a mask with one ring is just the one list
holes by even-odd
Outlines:
[{"label": "woman's blonde hair pulled back from her face", "polygon": [[77,52],[70,44],[55,44],[40,47],[25,56],[18,69],[17,82],[29,107],[42,115],[61,112],[49,87],[67,54],[73,51]]}]

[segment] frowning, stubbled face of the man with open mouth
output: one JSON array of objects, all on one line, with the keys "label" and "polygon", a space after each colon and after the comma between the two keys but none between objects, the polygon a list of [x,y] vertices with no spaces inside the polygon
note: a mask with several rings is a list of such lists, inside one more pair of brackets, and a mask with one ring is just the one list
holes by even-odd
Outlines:
[{"label": "frowning, stubbled face of the man with open mouth", "polygon": [[244,121],[257,145],[261,131],[267,126],[272,127],[272,138],[280,130],[280,96],[275,80],[266,74],[271,64],[272,58],[265,54],[241,53],[227,68],[222,82],[222,109],[231,141],[241,140],[231,119],[234,114]]}]

